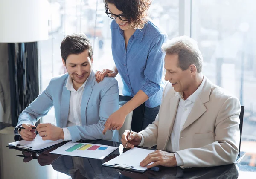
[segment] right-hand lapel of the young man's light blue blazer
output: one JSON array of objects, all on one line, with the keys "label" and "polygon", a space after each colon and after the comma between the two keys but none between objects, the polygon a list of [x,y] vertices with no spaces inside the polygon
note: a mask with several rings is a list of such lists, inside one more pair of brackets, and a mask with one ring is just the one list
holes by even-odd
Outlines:
[{"label": "right-hand lapel of the young man's light blue blazer", "polygon": [[90,95],[93,91],[92,86],[95,84],[95,73],[93,72],[93,70],[91,71],[91,74],[85,84],[84,87],[84,92],[83,92],[83,96],[82,96],[82,102],[81,102],[81,121],[82,121],[82,125],[87,125],[86,122],[86,108],[87,108],[87,104],[88,101],[90,99]]}]

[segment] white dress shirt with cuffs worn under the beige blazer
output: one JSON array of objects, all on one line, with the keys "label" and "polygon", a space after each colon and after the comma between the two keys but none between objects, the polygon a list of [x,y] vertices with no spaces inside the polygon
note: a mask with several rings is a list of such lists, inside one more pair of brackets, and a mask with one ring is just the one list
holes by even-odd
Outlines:
[{"label": "white dress shirt with cuffs worn under the beige blazer", "polygon": [[[195,92],[192,95],[190,95],[186,100],[184,100],[182,92],[175,92],[175,95],[180,97],[180,101],[178,104],[175,121],[174,121],[174,124],[172,127],[172,133],[170,136],[170,140],[168,141],[168,144],[166,147],[167,151],[176,152],[176,151],[180,150],[180,132],[182,130],[183,125],[186,122],[186,119],[189,116],[190,111],[192,110],[192,107],[195,104],[195,100],[198,98],[199,94],[201,93],[201,91],[204,87],[205,81],[206,81],[205,78],[203,78],[203,81],[200,84],[200,86],[198,87],[198,89],[195,90]],[[142,137],[142,140],[141,140],[139,146],[143,146],[144,138],[143,138],[142,134],[140,134],[140,136]],[[180,158],[180,156],[177,153],[174,153],[174,155],[176,158],[177,166],[183,165],[184,163],[183,163],[182,159]]]}]

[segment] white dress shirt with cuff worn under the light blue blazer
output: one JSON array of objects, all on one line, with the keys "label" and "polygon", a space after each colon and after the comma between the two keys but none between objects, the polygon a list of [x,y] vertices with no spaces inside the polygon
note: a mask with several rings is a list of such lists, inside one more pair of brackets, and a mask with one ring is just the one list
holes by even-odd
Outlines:
[{"label": "white dress shirt with cuff worn under the light blue blazer", "polygon": [[[70,107],[68,113],[68,121],[67,127],[70,126],[81,126],[81,101],[84,92],[84,87],[87,80],[82,84],[82,86],[77,89],[77,91],[73,87],[72,78],[68,76],[66,88],[70,92]],[[71,135],[67,127],[63,128],[64,132],[64,141],[72,140]]]}]

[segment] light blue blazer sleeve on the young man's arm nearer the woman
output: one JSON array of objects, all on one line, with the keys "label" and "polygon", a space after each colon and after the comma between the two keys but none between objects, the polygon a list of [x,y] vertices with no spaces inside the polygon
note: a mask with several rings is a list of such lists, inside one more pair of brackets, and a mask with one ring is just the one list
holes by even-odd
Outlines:
[{"label": "light blue blazer sleeve on the young man's arm nearer the woman", "polygon": [[[102,82],[101,82],[102,83]],[[82,140],[113,140],[116,130],[108,130],[105,135],[102,134],[104,124],[108,117],[119,109],[119,90],[115,78],[111,78],[102,90],[99,104],[99,121],[97,124],[87,126],[71,126],[67,127],[70,132],[72,142]]]}]

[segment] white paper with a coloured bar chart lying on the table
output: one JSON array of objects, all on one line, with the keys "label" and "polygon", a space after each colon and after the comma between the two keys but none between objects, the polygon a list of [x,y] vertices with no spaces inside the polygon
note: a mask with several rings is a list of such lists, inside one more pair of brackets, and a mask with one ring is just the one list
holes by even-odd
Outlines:
[{"label": "white paper with a coloured bar chart lying on the table", "polygon": [[108,145],[88,144],[88,143],[71,143],[68,142],[61,147],[53,150],[50,153],[66,155],[66,156],[79,156],[93,159],[104,159],[110,153],[118,149]]}]

